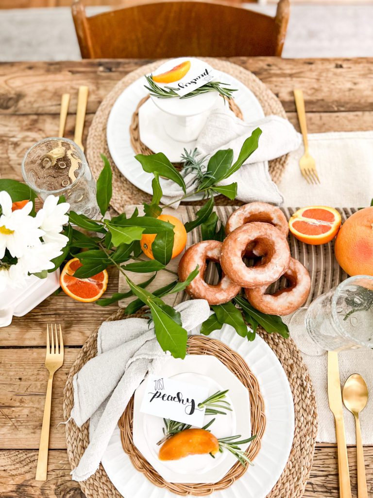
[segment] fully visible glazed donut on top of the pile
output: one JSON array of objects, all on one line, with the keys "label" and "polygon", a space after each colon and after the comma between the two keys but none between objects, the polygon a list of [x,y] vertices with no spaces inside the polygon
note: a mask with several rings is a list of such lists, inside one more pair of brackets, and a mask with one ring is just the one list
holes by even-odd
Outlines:
[{"label": "fully visible glazed donut on top of the pile", "polygon": [[[248,245],[259,242],[263,258],[258,266],[246,266],[242,259]],[[288,267],[290,250],[280,230],[268,223],[253,222],[231,232],[221,247],[220,264],[223,272],[242,287],[258,287],[275,282]]]}]

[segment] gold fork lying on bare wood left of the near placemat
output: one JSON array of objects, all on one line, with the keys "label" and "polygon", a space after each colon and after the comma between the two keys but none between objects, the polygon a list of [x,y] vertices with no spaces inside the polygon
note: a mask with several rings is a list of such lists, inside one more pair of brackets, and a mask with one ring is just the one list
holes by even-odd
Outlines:
[{"label": "gold fork lying on bare wood left of the near placemat", "polygon": [[57,337],[57,324],[54,325],[54,335],[56,344],[53,337],[53,324],[51,324],[51,343],[49,343],[49,325],[47,325],[47,353],[45,355],[45,366],[49,371],[47,394],[45,396],[43,425],[41,428],[39,456],[36,467],[36,481],[47,480],[47,465],[48,465],[48,445],[49,445],[49,426],[51,421],[51,404],[52,404],[52,385],[53,375],[57,370],[62,367],[64,363],[64,342],[62,339],[62,330],[60,325],[60,345],[58,345]]}]

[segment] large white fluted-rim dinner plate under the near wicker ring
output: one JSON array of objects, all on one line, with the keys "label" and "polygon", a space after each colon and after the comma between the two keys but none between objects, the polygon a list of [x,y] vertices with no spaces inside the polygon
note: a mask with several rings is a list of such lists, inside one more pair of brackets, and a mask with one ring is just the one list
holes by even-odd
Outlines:
[{"label": "large white fluted-rim dinner plate under the near wicker ring", "polygon": [[[191,334],[198,334],[199,328]],[[232,486],[215,491],[214,498],[265,498],[285,468],[294,438],[294,403],[280,361],[267,343],[257,335],[253,342],[238,336],[229,325],[210,334],[236,351],[256,376],[264,399],[266,429],[261,449],[245,474]],[[223,415],[222,415],[223,416]],[[195,458],[190,457],[190,458]],[[123,451],[120,431],[116,427],[102,458],[102,465],[124,498],[175,498],[178,495],[154,486],[132,465]]]}]

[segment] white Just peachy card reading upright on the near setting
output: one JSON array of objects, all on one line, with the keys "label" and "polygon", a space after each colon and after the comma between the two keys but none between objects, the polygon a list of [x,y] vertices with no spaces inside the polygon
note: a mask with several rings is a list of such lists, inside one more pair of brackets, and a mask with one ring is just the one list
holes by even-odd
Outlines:
[{"label": "white Just peachy card reading upright on the near setting", "polygon": [[198,404],[208,397],[208,388],[149,374],[140,411],[195,427],[203,426],[205,408]]}]

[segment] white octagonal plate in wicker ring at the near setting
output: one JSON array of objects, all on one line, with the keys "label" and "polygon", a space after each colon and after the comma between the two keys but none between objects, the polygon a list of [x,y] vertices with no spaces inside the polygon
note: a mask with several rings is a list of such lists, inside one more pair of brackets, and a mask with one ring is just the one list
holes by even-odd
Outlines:
[{"label": "white octagonal plate in wicker ring at the near setting", "polygon": [[[190,355],[185,360],[170,358],[162,368],[162,376],[205,386],[208,396],[229,389],[226,400],[231,404],[232,411],[227,411],[226,415],[206,415],[203,425],[215,418],[209,430],[217,438],[236,434],[241,435],[240,439],[251,436],[249,391],[217,358],[207,355]],[[135,391],[133,408],[133,442],[140,453],[170,483],[220,481],[237,461],[228,451],[217,453],[215,458],[210,455],[192,455],[174,461],[159,460],[160,446],[157,446],[157,442],[163,437],[164,423],[162,418],[140,411],[146,387],[145,379]]]}]

